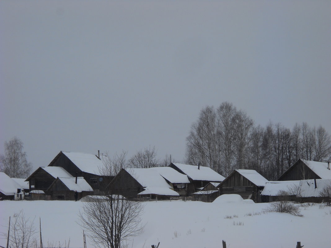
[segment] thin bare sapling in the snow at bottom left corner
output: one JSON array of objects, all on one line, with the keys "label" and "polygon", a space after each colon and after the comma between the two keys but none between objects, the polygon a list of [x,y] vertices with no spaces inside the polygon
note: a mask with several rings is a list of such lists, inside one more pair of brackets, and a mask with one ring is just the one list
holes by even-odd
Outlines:
[{"label": "thin bare sapling in the snow at bottom left corner", "polygon": [[10,247],[30,248],[36,246],[37,241],[34,235],[38,231],[34,225],[34,219],[26,219],[23,210],[14,215],[14,221],[10,226]]}]

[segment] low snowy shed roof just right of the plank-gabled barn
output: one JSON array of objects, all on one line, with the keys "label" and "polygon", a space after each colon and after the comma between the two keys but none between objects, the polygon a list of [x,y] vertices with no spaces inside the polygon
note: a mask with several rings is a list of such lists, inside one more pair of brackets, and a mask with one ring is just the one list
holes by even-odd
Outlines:
[{"label": "low snowy shed roof just right of the plank-gabled barn", "polygon": [[[270,195],[270,196],[276,196],[278,195],[279,191],[295,191],[295,194],[297,192],[297,189],[299,187],[300,180],[297,181],[269,181],[265,184],[261,195]],[[290,193],[292,194],[292,193]],[[294,195],[294,193],[293,193]]]}]

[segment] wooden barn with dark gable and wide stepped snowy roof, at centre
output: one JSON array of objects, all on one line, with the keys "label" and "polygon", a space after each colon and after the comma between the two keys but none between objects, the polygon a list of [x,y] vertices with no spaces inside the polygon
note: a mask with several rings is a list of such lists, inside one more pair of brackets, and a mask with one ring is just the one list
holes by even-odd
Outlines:
[{"label": "wooden barn with dark gable and wide stepped snowy roof, at centre", "polygon": [[126,198],[168,199],[179,196],[154,168],[121,169],[109,185],[110,194]]}]

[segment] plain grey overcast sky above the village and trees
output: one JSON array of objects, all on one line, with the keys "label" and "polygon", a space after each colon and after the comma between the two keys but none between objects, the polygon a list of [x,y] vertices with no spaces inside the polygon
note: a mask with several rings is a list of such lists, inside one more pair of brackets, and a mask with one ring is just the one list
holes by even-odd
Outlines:
[{"label": "plain grey overcast sky above the village and trees", "polygon": [[0,153],[184,160],[200,110],[331,133],[331,1],[1,1]]}]

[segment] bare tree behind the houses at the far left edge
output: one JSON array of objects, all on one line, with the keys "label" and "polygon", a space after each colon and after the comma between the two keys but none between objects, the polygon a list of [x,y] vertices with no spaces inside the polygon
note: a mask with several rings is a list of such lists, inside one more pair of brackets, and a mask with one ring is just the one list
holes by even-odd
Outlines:
[{"label": "bare tree behind the houses at the far left edge", "polygon": [[32,165],[27,162],[26,153],[23,152],[23,142],[14,137],[5,142],[5,154],[0,155],[0,169],[11,178],[27,178]]}]

